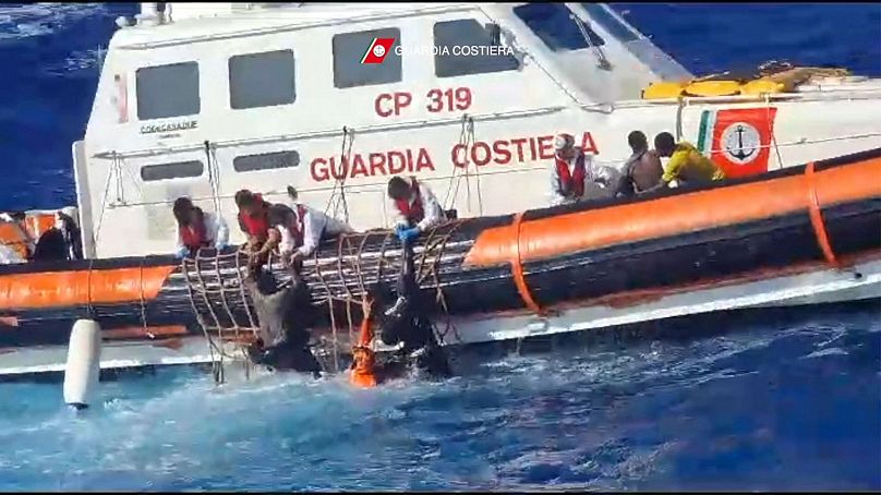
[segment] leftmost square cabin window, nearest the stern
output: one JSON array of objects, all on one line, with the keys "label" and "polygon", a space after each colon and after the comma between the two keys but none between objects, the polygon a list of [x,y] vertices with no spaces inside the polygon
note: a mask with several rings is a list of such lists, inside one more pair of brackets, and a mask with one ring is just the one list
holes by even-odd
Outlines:
[{"label": "leftmost square cabin window, nearest the stern", "polygon": [[172,63],[135,72],[140,120],[194,116],[200,112],[198,64]]}]

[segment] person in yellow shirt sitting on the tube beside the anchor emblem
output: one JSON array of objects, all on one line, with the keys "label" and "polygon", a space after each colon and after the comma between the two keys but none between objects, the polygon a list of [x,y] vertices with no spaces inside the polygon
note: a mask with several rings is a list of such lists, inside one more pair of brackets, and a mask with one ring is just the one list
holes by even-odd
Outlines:
[{"label": "person in yellow shirt sitting on the tube beside the anchor emblem", "polygon": [[669,157],[661,180],[651,190],[668,188],[672,181],[681,184],[709,184],[725,179],[725,172],[703,156],[690,143],[676,144],[673,134],[662,132],[654,136],[654,148],[661,157]]}]

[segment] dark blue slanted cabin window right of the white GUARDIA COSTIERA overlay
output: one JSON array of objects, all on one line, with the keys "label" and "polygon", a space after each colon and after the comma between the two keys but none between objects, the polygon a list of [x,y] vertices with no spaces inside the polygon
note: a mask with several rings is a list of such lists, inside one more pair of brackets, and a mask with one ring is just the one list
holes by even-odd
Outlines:
[{"label": "dark blue slanted cabin window right of the white GUARDIA COSTIERA overlay", "polygon": [[[547,48],[554,51],[580,50],[590,47],[578,24],[569,17],[575,14],[563,3],[527,3],[515,7],[514,13],[547,45]],[[593,46],[605,45],[603,38],[594,33],[587,23],[584,23],[584,31]]]}]

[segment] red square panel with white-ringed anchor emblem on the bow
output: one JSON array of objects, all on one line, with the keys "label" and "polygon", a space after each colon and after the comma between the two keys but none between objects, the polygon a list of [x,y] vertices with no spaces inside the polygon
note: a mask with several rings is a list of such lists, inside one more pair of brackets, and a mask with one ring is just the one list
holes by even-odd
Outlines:
[{"label": "red square panel with white-ringed anchor emblem on the bow", "polygon": [[698,149],[722,167],[726,177],[767,172],[776,113],[773,107],[704,110]]}]

